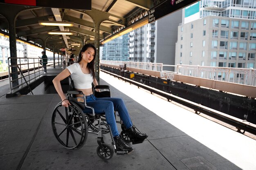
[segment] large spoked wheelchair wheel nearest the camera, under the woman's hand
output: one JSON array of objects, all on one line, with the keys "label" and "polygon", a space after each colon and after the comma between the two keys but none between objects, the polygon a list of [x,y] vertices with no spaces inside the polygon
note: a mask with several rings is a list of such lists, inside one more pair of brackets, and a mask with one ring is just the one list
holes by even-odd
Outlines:
[{"label": "large spoked wheelchair wheel nearest the camera, under the woman's hand", "polygon": [[83,111],[77,104],[70,102],[66,108],[59,103],[52,114],[52,130],[57,141],[69,150],[83,146],[88,136],[88,125]]}]

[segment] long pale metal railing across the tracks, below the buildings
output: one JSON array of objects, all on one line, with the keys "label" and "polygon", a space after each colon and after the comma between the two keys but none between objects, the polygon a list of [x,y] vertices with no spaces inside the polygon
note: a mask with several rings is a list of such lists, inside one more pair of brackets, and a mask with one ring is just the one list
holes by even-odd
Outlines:
[{"label": "long pale metal railing across the tracks, below the buildings", "polygon": [[[187,75],[205,79],[213,79],[224,82],[256,86],[256,69],[253,68],[230,68],[230,67],[211,67],[211,66],[193,66],[193,65],[165,65],[161,63],[146,62],[119,62],[101,60],[101,64],[124,65],[130,68],[145,69],[150,71],[159,71],[161,75],[167,74],[167,77],[173,77],[172,74]],[[118,68],[118,67],[117,67]],[[163,69],[165,68],[165,70]],[[173,70],[173,71],[167,71]]]}]

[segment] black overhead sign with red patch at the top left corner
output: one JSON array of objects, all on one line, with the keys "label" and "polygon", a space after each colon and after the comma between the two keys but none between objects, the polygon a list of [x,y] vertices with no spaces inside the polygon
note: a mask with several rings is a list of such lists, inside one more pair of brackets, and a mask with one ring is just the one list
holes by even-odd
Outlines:
[{"label": "black overhead sign with red patch at the top left corner", "polygon": [[49,8],[92,10],[92,0],[0,0],[0,3]]}]

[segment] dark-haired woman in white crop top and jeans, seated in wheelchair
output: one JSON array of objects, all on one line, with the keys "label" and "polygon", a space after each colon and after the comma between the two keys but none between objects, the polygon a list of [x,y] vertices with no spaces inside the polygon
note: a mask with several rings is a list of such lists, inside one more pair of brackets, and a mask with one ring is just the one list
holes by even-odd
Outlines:
[{"label": "dark-haired woman in white crop top and jeans, seated in wheelchair", "polygon": [[86,104],[92,106],[96,114],[105,113],[106,121],[110,126],[117,149],[131,152],[134,148],[128,146],[124,142],[117,130],[114,110],[118,111],[121,120],[127,128],[128,137],[130,137],[130,139],[143,141],[148,135],[137,132],[134,126],[132,126],[128,110],[122,99],[112,97],[97,98],[93,95],[92,83],[94,86],[98,85],[94,72],[94,56],[96,56],[95,46],[92,44],[85,44],[79,53],[77,62],[65,68],[65,70],[58,74],[52,82],[58,95],[61,97],[62,105],[68,107],[70,102],[66,99],[66,96],[62,91],[61,80],[71,75],[76,90],[82,91],[86,96]]}]

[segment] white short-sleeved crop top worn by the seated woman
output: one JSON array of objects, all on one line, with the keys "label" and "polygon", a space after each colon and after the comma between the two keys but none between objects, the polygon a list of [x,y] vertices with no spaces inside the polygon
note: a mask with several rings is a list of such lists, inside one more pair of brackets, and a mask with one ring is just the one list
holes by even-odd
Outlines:
[{"label": "white short-sleeved crop top worn by the seated woman", "polygon": [[93,77],[92,74],[85,74],[82,72],[79,63],[74,63],[67,67],[71,73],[71,77],[74,81],[75,88],[88,89],[92,88]]}]

